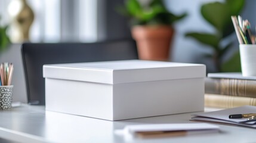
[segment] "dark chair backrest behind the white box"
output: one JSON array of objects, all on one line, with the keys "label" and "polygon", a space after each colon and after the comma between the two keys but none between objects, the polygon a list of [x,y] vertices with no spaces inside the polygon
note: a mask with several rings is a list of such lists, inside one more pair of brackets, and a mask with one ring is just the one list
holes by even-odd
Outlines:
[{"label": "dark chair backrest behind the white box", "polygon": [[45,104],[44,64],[81,63],[138,59],[132,40],[96,43],[23,43],[21,47],[27,98],[30,104]]}]

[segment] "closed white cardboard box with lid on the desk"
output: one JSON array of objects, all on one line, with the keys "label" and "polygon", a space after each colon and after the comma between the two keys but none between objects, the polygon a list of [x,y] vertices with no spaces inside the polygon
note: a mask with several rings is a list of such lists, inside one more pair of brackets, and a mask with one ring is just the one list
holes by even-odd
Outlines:
[{"label": "closed white cardboard box with lid on the desk", "polygon": [[106,120],[203,111],[205,66],[164,61],[44,65],[46,110]]}]

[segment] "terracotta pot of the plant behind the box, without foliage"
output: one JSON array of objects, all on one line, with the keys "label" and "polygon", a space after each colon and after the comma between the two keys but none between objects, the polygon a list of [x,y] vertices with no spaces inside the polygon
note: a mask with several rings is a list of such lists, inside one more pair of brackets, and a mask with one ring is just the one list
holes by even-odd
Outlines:
[{"label": "terracotta pot of the plant behind the box, without foliage", "polygon": [[134,26],[132,38],[137,42],[141,60],[168,61],[174,29],[171,26]]}]

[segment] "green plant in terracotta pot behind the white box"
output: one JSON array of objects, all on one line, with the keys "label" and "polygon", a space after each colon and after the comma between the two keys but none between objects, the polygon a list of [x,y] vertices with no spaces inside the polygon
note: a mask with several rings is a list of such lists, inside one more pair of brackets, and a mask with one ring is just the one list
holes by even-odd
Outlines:
[{"label": "green plant in terracotta pot behind the white box", "polygon": [[186,14],[170,13],[162,0],[127,0],[119,12],[131,19],[132,38],[137,42],[138,56],[141,60],[169,60],[169,49],[174,29],[171,26]]}]

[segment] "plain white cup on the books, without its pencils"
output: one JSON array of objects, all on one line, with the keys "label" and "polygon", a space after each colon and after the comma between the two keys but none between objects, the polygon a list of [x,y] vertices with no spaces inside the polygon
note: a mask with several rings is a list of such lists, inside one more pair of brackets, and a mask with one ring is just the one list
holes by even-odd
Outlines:
[{"label": "plain white cup on the books, without its pencils", "polygon": [[243,76],[256,76],[256,45],[240,44],[240,59]]}]

